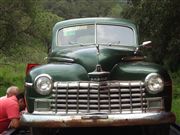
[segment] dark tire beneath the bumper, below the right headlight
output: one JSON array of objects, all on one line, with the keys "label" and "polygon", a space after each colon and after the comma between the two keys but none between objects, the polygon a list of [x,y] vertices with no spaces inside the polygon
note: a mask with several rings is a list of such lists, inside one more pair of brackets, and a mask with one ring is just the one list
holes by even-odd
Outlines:
[{"label": "dark tire beneath the bumper, below the right headlight", "polygon": [[153,125],[153,126],[144,126],[143,135],[169,135],[170,134],[170,125]]}]

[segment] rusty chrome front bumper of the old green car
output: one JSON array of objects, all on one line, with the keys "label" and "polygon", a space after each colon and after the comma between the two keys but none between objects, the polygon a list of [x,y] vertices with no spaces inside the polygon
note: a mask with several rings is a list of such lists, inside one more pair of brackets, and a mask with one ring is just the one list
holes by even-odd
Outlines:
[{"label": "rusty chrome front bumper of the old green car", "polygon": [[174,123],[175,119],[175,115],[171,112],[72,116],[24,113],[21,125],[49,128],[131,126]]}]

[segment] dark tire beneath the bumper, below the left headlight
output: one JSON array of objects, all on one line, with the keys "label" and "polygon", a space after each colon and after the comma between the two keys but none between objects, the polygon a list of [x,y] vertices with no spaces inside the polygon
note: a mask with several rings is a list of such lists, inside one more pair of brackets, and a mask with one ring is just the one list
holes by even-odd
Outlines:
[{"label": "dark tire beneath the bumper, below the left headlight", "polygon": [[30,128],[31,135],[58,135],[59,130],[55,128]]}]

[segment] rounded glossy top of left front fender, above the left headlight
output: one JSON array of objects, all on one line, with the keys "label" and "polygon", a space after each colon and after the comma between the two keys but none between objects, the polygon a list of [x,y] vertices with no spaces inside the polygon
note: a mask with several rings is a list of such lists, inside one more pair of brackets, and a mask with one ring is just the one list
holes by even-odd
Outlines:
[{"label": "rounded glossy top of left front fender, above the left headlight", "polygon": [[32,83],[40,74],[49,74],[54,81],[88,80],[84,67],[75,63],[45,64],[33,68],[26,77],[26,82]]}]

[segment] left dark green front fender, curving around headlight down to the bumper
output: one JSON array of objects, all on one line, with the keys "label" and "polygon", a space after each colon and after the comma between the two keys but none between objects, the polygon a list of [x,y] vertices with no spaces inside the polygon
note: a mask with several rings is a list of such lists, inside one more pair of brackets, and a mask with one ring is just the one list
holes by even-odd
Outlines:
[{"label": "left dark green front fender, curving around headlight down to the bumper", "polygon": [[26,84],[28,85],[25,87],[25,98],[29,112],[34,111],[35,99],[52,98],[51,93],[49,95],[41,95],[34,89],[34,80],[40,74],[50,75],[53,82],[89,80],[87,71],[84,69],[84,67],[75,63],[45,64],[33,68],[26,77]]}]

